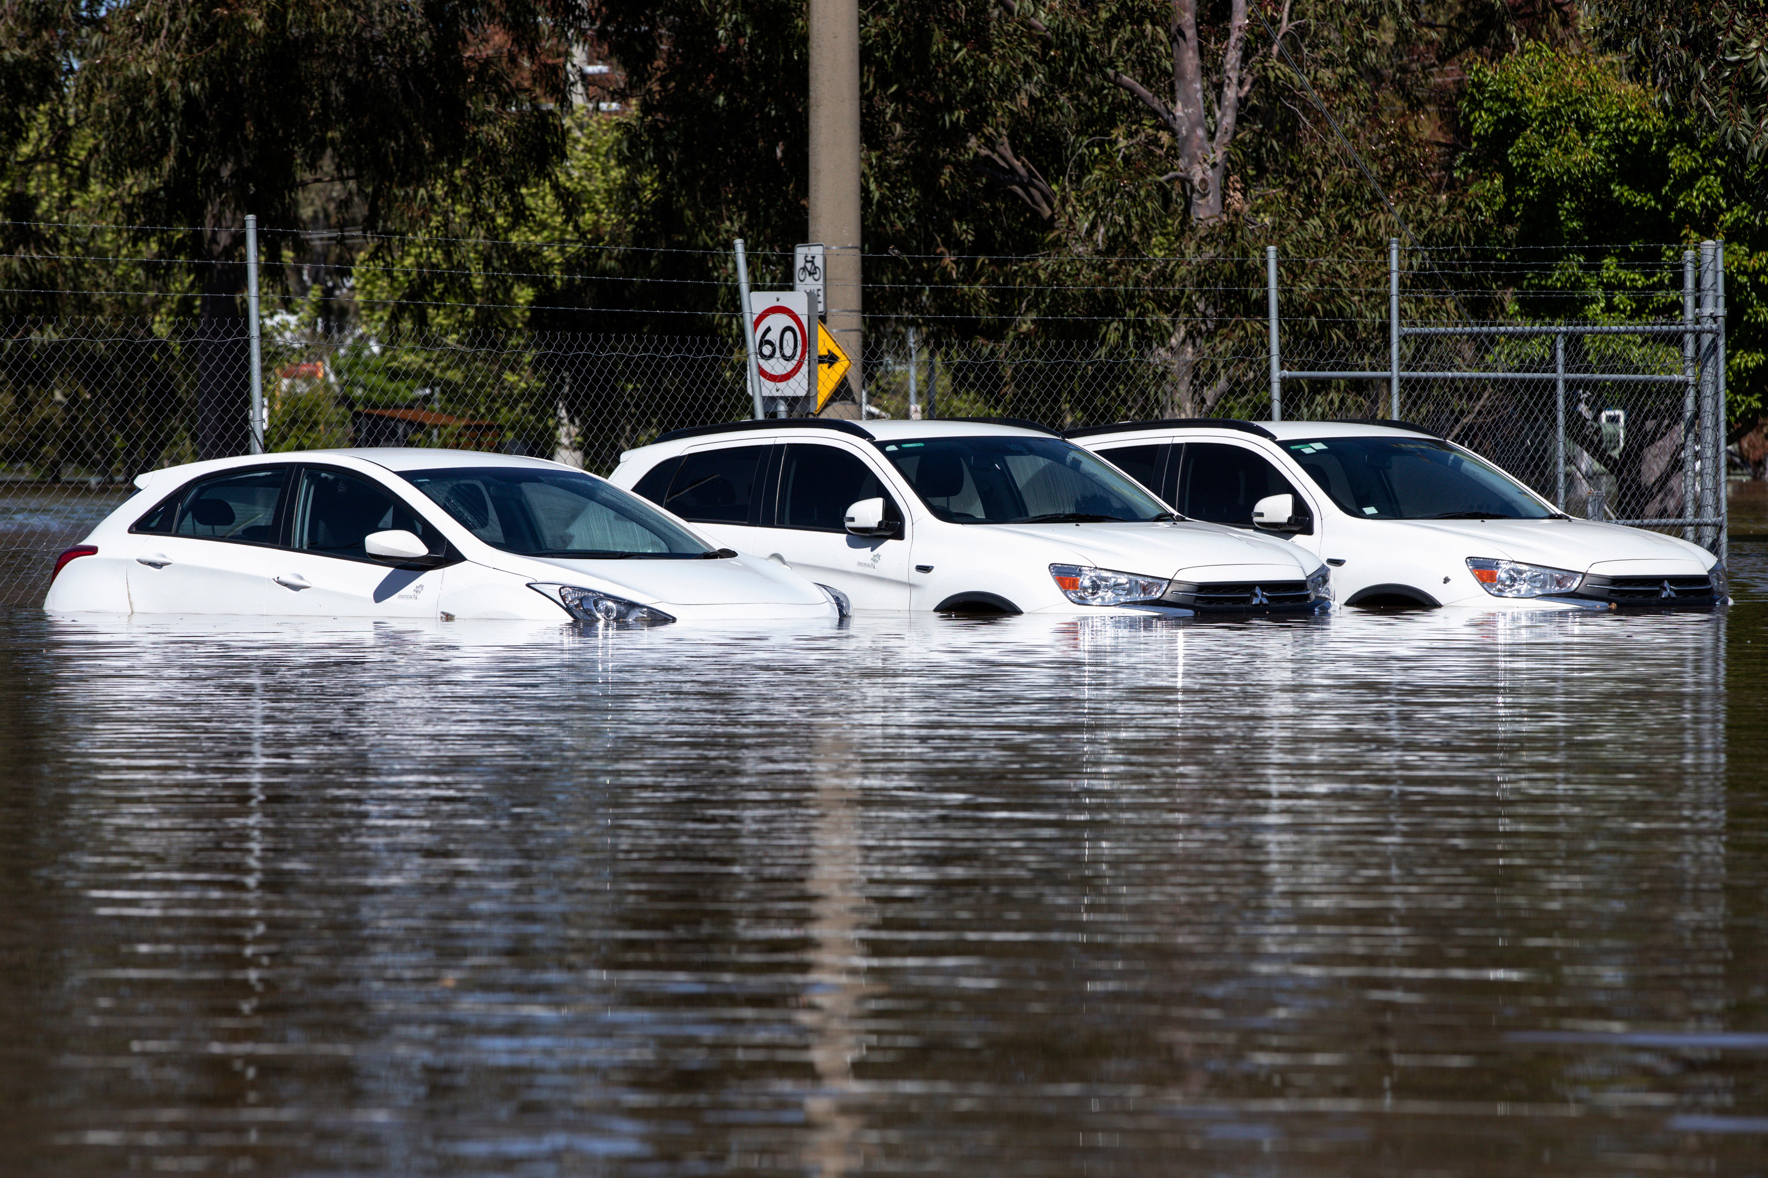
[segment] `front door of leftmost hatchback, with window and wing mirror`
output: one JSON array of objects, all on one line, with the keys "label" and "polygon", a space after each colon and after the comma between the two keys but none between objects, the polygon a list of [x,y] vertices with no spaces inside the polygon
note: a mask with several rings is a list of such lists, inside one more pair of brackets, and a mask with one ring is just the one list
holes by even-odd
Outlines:
[{"label": "front door of leftmost hatchback, with window and wing mirror", "polygon": [[288,544],[276,553],[269,613],[334,618],[433,618],[447,569],[375,560],[375,532],[417,535],[435,555],[447,540],[378,480],[334,466],[304,466],[288,496]]}]

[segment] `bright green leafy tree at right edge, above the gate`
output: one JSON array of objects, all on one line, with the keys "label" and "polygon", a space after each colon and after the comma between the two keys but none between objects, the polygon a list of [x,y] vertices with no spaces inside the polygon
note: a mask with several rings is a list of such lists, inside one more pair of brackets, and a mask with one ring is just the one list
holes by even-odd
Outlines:
[{"label": "bright green leafy tree at right edge, above the gate", "polygon": [[[1510,311],[1549,320],[1681,314],[1681,253],[1726,238],[1733,420],[1754,420],[1768,380],[1768,161],[1726,152],[1618,62],[1531,46],[1475,64],[1460,102],[1462,178]],[[1665,245],[1667,244],[1667,245]],[[1505,270],[1503,261],[1515,263]],[[1536,260],[1551,260],[1540,265]]]}]

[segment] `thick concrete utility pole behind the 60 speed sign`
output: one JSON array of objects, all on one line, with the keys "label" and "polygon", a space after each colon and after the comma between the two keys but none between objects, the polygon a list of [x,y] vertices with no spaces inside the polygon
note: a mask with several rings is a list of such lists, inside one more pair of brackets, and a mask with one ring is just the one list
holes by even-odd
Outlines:
[{"label": "thick concrete utility pole behind the 60 speed sign", "polygon": [[826,254],[824,323],[865,404],[859,291],[859,0],[810,0],[810,237]]}]

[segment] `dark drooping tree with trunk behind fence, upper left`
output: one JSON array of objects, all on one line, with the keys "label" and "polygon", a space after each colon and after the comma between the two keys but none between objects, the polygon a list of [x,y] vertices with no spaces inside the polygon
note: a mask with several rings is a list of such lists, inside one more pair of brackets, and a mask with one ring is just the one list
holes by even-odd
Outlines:
[{"label": "dark drooping tree with trunk behind fence, upper left", "polygon": [[[0,120],[30,148],[12,152],[12,221],[64,219],[21,208],[32,196],[87,194],[67,203],[200,226],[133,240],[194,265],[198,449],[233,452],[244,215],[295,226],[316,189],[370,228],[518,203],[562,155],[580,28],[575,0],[16,0],[0,9],[0,88],[39,104]],[[58,226],[12,228],[12,253],[72,253]],[[265,240],[271,260],[283,240]]]}]

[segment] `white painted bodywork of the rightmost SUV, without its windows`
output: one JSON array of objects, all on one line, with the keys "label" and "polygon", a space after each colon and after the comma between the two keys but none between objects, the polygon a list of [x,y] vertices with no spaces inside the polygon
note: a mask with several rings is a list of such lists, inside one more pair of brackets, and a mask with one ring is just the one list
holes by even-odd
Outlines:
[{"label": "white painted bodywork of the rightmost SUV, without its windows", "polygon": [[[1340,510],[1301,470],[1284,443],[1310,438],[1420,438],[1425,434],[1356,422],[1254,424],[1276,434],[1276,440],[1239,429],[1186,426],[1170,431],[1146,427],[1124,433],[1089,433],[1075,442],[1107,461],[1114,447],[1183,442],[1229,443],[1259,454],[1294,486],[1312,514],[1312,535],[1294,535],[1289,542],[1333,565],[1333,597],[1338,604],[1349,602],[1372,586],[1402,585],[1429,593],[1441,606],[1475,609],[1579,608],[1551,597],[1494,597],[1473,578],[1467,569],[1469,556],[1609,576],[1699,576],[1717,563],[1711,553],[1678,537],[1593,519],[1360,519]],[[1475,457],[1480,456],[1475,454]],[[1485,457],[1480,461],[1494,464]],[[1515,477],[1512,475],[1512,479]],[[1517,484],[1522,486],[1522,480],[1517,479]],[[1549,510],[1556,510],[1533,491],[1529,495]]]}]

